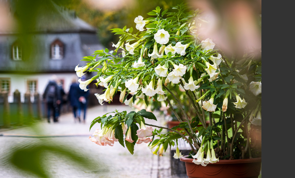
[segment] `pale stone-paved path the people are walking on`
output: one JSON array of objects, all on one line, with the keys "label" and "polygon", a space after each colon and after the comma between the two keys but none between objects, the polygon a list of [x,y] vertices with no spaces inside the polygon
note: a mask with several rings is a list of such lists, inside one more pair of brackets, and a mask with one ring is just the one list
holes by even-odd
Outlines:
[{"label": "pale stone-paved path the people are walking on", "polygon": [[[89,131],[91,121],[105,113],[118,109],[120,111],[132,109],[122,105],[103,105],[88,108],[86,123],[75,123],[72,113],[60,117],[59,123],[47,123],[46,119],[35,126],[15,129],[0,129],[0,177],[38,177],[24,170],[19,170],[10,163],[11,151],[15,148],[31,148],[40,145],[50,145],[55,148],[73,150],[76,156],[87,158],[90,165],[74,164],[55,152],[42,152],[42,163],[45,163],[45,172],[52,178],[176,178],[187,177],[171,175],[170,153],[163,156],[154,155],[145,143],[136,144],[134,154],[123,148],[118,142],[113,147],[100,146],[88,138],[100,125],[94,125]],[[151,124],[164,125],[164,118],[154,113],[158,121]],[[28,138],[15,135],[59,135],[63,137]],[[10,135],[10,136],[9,136]],[[64,137],[67,136],[67,137]]]}]

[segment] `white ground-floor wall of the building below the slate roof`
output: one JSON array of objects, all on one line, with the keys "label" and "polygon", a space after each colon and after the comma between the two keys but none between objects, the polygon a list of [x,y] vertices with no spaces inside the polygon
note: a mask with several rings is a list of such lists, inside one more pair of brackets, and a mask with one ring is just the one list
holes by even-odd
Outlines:
[{"label": "white ground-floor wall of the building below the slate roof", "polygon": [[[13,92],[18,89],[21,93],[21,102],[24,102],[24,93],[27,92],[27,81],[37,81],[37,92],[42,96],[50,77],[53,74],[0,74],[0,78],[10,79],[10,92],[8,102],[13,102]],[[64,80],[64,90],[67,93],[72,84],[72,78],[75,77],[78,82],[76,72],[73,73],[54,73],[58,79]]]}]

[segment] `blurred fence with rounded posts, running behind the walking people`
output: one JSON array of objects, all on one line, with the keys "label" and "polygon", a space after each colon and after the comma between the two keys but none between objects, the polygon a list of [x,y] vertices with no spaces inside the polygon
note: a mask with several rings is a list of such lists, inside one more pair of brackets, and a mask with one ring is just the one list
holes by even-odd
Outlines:
[{"label": "blurred fence with rounded posts, running behind the walking people", "polygon": [[[92,89],[88,98],[88,107],[99,105],[94,93],[103,93],[103,88]],[[31,102],[31,94],[24,94],[24,102],[21,102],[20,92],[13,92],[13,102],[8,102],[8,92],[0,92],[0,128],[9,128],[13,125],[23,125],[47,118],[47,107],[39,93],[34,93],[34,100]],[[120,105],[120,94],[115,94],[110,104]],[[108,103],[105,103],[108,104]],[[62,103],[61,114],[72,112],[69,102]]]}]

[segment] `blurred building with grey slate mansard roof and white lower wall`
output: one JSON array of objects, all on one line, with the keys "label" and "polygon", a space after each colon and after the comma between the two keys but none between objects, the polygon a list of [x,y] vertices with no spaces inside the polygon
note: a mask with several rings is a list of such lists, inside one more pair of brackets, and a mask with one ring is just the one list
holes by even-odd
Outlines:
[{"label": "blurred building with grey slate mansard roof and white lower wall", "polygon": [[[35,26],[26,34],[34,44],[30,53],[17,28],[0,28],[0,92],[8,91],[8,102],[13,102],[15,90],[21,93],[22,102],[25,92],[42,95],[53,74],[62,81],[67,93],[72,77],[76,76],[75,66],[85,65],[87,61],[81,61],[84,56],[105,48],[99,43],[96,29],[75,13],[52,2],[39,11],[42,13],[36,16]],[[16,19],[18,12],[8,16]]]}]

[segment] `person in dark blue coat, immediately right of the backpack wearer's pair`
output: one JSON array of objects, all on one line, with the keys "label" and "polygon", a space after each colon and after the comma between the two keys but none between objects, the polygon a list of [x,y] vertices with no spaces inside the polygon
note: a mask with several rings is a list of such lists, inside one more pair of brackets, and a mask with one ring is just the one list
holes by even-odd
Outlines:
[{"label": "person in dark blue coat, immediately right of the backpack wearer's pair", "polygon": [[76,122],[76,120],[79,120],[79,122],[81,122],[81,119],[80,119],[81,108],[79,104],[81,89],[79,87],[79,83],[77,82],[78,80],[76,78],[77,77],[72,78],[72,84],[70,86],[70,90],[68,93],[68,101],[70,102],[73,109],[74,121]]}]

